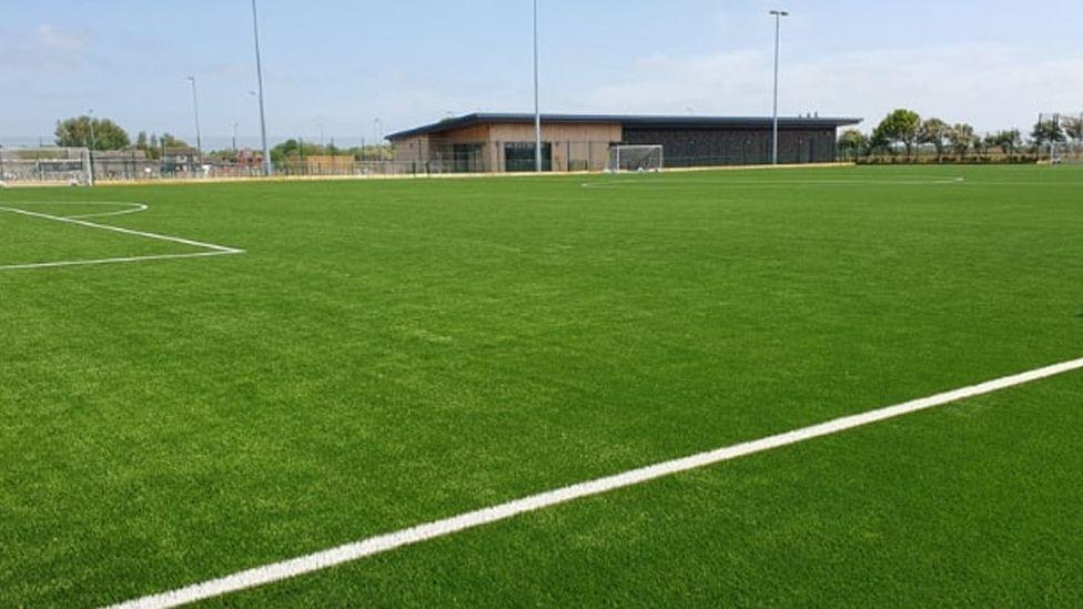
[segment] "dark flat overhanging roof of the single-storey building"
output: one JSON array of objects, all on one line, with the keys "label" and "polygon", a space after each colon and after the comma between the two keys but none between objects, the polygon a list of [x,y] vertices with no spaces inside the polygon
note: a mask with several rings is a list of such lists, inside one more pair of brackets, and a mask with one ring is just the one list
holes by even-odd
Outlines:
[{"label": "dark flat overhanging roof of the single-storey building", "polygon": [[[427,135],[455,129],[465,129],[490,123],[533,123],[534,114],[477,113],[445,119],[438,123],[401,131],[387,136],[402,140],[414,135]],[[543,114],[544,123],[618,123],[625,128],[639,129],[767,129],[771,126],[770,116],[642,116],[626,114]],[[858,124],[861,119],[824,116],[779,116],[779,126],[788,129],[839,128]]]}]

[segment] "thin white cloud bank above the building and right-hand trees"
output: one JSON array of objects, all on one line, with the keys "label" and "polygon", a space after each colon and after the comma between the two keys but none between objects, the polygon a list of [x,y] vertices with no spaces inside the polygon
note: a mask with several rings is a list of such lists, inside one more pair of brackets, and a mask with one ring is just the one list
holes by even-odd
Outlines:
[{"label": "thin white cloud bank above the building and right-hand trees", "polygon": [[[619,111],[765,114],[772,57],[739,51],[655,55],[577,106]],[[785,114],[846,114],[874,122],[893,108],[970,122],[988,131],[1026,128],[1039,112],[1083,112],[1083,58],[1030,57],[1000,44],[853,51],[782,63]],[[868,124],[866,125],[868,126]]]}]

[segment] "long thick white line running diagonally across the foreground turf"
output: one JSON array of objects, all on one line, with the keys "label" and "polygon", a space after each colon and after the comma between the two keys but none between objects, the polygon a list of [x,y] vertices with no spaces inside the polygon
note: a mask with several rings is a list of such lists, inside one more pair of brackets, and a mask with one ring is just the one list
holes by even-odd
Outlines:
[{"label": "long thick white line running diagonally across the foreground turf", "polygon": [[945,404],[951,404],[962,399],[968,399],[981,395],[992,394],[1010,387],[1033,383],[1044,378],[1066,374],[1073,371],[1083,369],[1083,358],[1064,362],[1053,366],[1025,372],[1014,376],[990,380],[980,385],[964,387],[952,392],[938,394],[931,397],[907,402],[878,410],[871,410],[859,415],[846,416],[794,429],[785,434],[766,437],[758,440],[747,441],[719,448],[709,453],[700,453],[690,457],[665,461],[639,469],[632,469],[598,478],[587,483],[580,483],[538,495],[532,495],[500,504],[493,507],[469,511],[443,520],[436,520],[425,525],[418,525],[395,532],[370,537],[355,544],[338,546],[330,550],[324,550],[306,556],[255,567],[245,571],[240,571],[220,579],[195,583],[184,588],[171,590],[160,595],[146,596],[130,600],[119,605],[113,605],[111,609],[159,609],[166,607],[178,607],[190,602],[206,600],[230,592],[236,592],[257,586],[264,586],[284,579],[295,578],[305,574],[328,569],[346,562],[353,562],[366,557],[383,554],[403,546],[419,544],[429,539],[444,537],[466,529],[473,529],[483,525],[489,525],[500,520],[507,520],[522,514],[537,511],[576,499],[583,499],[594,495],[600,495],[619,488],[640,485],[658,478],[672,476],[682,471],[699,469],[710,465],[719,464],[798,444],[814,438],[839,434],[848,429],[854,429],[866,425],[880,423],[895,417],[901,417],[920,410],[927,410]]}]

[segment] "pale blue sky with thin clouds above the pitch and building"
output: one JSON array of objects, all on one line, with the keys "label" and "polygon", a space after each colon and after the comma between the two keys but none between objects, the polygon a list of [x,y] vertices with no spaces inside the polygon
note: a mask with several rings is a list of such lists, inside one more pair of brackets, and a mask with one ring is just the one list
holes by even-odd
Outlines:
[{"label": "pale blue sky with thin clouds above the pitch and building", "polygon": [[[132,135],[257,142],[250,0],[0,0],[0,144],[107,116]],[[533,111],[530,0],[259,0],[273,140],[352,145],[477,111]],[[545,112],[867,119],[979,132],[1083,113],[1080,0],[539,0]],[[378,120],[378,122],[377,122]],[[322,134],[322,135],[321,135]]]}]

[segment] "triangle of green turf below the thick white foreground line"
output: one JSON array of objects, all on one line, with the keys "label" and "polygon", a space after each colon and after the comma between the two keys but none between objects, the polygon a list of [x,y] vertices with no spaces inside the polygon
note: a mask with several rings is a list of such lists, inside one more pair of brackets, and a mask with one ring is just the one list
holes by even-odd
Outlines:
[{"label": "triangle of green turf below the thick white foreground line", "polygon": [[1081,397],[1056,379],[208,605],[1080,607]]}]

